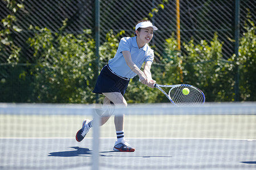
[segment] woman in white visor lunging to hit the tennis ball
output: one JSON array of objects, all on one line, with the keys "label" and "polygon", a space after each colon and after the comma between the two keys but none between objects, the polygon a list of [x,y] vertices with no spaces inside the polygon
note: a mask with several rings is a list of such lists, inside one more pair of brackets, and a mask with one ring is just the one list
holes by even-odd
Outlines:
[{"label": "woman in white visor lunging to hit the tennis ball", "polygon": [[[152,40],[154,30],[158,30],[148,20],[141,20],[135,26],[134,37],[123,37],[119,42],[117,53],[105,65],[98,76],[96,86],[93,90],[96,94],[105,96],[104,105],[118,104],[127,107],[123,95],[131,78],[139,76],[142,84],[154,88],[155,80],[151,76],[151,64],[154,60],[154,50],[148,46]],[[144,64],[143,71],[141,70]],[[110,114],[111,115],[111,114]],[[101,125],[104,125],[110,116],[101,117]],[[134,152],[125,139],[123,131],[124,116],[115,116],[114,124],[117,134],[117,141],[114,144],[114,151]],[[81,142],[86,133],[93,127],[93,120],[84,120],[82,128],[77,131],[76,140]]]}]

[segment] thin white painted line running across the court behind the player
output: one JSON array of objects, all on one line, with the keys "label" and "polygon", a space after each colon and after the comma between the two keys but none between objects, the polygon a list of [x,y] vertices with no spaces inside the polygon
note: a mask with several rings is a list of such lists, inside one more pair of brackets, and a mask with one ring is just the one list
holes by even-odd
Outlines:
[{"label": "thin white painted line running across the court behind the player", "polygon": [[[0,139],[74,139],[75,138],[0,138]],[[86,138],[93,139],[93,138]],[[116,138],[100,138],[100,139],[116,139]],[[237,141],[255,141],[256,139],[230,139],[230,138],[126,138],[126,139],[200,139],[200,140],[237,140]]]}]

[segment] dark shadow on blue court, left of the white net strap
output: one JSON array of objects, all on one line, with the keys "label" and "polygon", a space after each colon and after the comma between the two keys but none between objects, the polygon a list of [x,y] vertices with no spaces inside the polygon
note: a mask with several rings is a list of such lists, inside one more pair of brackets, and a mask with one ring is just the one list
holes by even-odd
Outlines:
[{"label": "dark shadow on blue court, left of the white net strap", "polygon": [[59,157],[72,157],[72,156],[86,156],[91,155],[92,152],[89,148],[81,148],[77,146],[73,146],[70,148],[74,148],[73,151],[61,151],[61,152],[51,152],[48,156],[59,156]]}]

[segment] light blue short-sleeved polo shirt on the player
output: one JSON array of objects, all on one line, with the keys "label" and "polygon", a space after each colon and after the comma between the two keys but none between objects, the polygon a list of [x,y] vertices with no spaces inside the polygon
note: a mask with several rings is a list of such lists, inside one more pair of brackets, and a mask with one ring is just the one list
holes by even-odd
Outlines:
[{"label": "light blue short-sleeved polo shirt on the player", "polygon": [[145,44],[141,49],[138,48],[136,37],[123,37],[119,42],[117,53],[115,57],[109,59],[109,67],[115,74],[126,77],[134,78],[135,74],[125,61],[122,52],[129,51],[131,59],[141,69],[143,62],[154,61],[154,50]]}]

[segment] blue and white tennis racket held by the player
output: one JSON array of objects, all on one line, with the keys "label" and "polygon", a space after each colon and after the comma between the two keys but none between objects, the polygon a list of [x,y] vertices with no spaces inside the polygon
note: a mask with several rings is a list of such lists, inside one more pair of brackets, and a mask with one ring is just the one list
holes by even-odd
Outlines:
[{"label": "blue and white tennis racket held by the player", "polygon": [[[155,87],[163,92],[164,95],[177,106],[200,105],[205,103],[205,95],[199,88],[189,84],[162,85],[155,84]],[[171,87],[168,95],[161,87]],[[189,94],[183,94],[183,88],[189,89]]]}]

